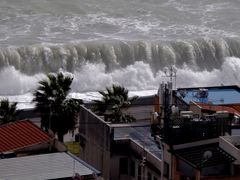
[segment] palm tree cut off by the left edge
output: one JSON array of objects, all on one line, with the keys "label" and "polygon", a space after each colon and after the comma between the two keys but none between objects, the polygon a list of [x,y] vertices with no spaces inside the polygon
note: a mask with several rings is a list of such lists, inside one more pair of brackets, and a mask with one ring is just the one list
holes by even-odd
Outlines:
[{"label": "palm tree cut off by the left edge", "polygon": [[10,103],[8,99],[0,101],[0,125],[13,121],[16,114],[17,103]]}]

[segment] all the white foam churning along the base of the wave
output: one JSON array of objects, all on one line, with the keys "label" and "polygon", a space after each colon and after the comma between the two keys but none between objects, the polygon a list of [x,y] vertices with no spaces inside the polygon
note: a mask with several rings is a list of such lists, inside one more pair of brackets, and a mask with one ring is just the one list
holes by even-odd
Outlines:
[{"label": "all the white foam churning along the base of the wave", "polygon": [[[194,86],[219,86],[239,85],[240,59],[236,57],[226,58],[220,69],[212,71],[195,71],[188,66],[177,68],[177,87]],[[99,98],[98,90],[117,83],[130,90],[130,95],[150,95],[157,91],[159,83],[166,81],[164,72],[153,73],[149,64],[142,61],[135,62],[126,68],[106,72],[104,64],[85,64],[80,71],[72,74],[71,97],[81,98],[85,101]],[[0,71],[0,94],[11,101],[18,101],[18,108],[32,107],[31,93],[37,87],[37,82],[45,78],[43,74],[27,76],[13,67]]]}]

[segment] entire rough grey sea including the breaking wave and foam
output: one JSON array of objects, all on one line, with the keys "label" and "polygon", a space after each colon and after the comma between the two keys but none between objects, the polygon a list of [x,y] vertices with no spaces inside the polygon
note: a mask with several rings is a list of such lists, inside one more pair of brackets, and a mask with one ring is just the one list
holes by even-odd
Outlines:
[{"label": "entire rough grey sea including the breaking wave and foam", "polygon": [[32,107],[58,71],[84,100],[154,94],[171,66],[177,87],[239,85],[239,16],[238,0],[0,0],[0,96]]}]

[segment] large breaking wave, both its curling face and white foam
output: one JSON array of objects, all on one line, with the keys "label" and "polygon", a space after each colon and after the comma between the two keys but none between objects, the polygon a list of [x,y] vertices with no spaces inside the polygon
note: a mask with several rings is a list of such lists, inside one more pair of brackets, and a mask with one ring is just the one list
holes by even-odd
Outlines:
[{"label": "large breaking wave, both its curling face and white foam", "polygon": [[239,39],[170,42],[88,42],[0,50],[1,95],[32,92],[49,72],[74,76],[72,92],[91,92],[112,83],[132,91],[157,89],[163,69],[175,66],[177,87],[239,84]]}]

